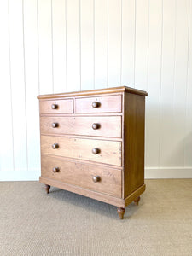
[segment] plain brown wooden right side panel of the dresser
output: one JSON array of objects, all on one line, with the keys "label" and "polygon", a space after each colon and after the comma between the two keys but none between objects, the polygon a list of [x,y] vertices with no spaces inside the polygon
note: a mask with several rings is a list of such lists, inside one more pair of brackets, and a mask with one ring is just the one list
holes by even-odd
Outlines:
[{"label": "plain brown wooden right side panel of the dresser", "polygon": [[145,96],[125,93],[124,198],[144,184]]}]

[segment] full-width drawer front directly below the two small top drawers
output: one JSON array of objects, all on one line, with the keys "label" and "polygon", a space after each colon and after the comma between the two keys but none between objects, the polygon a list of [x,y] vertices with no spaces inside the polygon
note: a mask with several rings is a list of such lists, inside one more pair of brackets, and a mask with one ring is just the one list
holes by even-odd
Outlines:
[{"label": "full-width drawer front directly below the two small top drawers", "polygon": [[121,116],[41,117],[42,134],[121,137]]}]

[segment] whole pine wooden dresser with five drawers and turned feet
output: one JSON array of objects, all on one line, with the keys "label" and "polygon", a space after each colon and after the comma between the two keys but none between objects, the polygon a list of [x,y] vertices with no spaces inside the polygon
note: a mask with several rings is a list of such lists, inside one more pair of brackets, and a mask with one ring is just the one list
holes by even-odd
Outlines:
[{"label": "whole pine wooden dresser with five drawers and turned feet", "polygon": [[41,95],[41,183],[118,207],[144,184],[147,92],[129,87]]}]

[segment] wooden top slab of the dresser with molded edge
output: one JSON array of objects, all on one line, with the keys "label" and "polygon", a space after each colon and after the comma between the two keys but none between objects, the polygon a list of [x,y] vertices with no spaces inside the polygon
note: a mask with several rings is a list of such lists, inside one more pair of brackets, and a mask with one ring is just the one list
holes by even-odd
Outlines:
[{"label": "wooden top slab of the dresser with molded edge", "polygon": [[81,90],[81,91],[73,91],[73,92],[39,95],[38,99],[41,100],[41,99],[61,98],[61,97],[70,97],[70,96],[92,96],[92,95],[98,95],[98,94],[108,94],[108,93],[118,93],[118,92],[129,92],[129,93],[137,94],[141,96],[148,96],[148,93],[144,90],[137,90],[131,87],[120,86],[120,87],[111,87],[111,88],[97,89],[97,90]]}]

